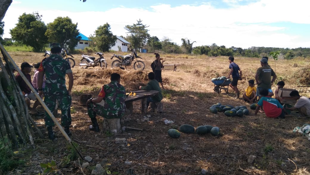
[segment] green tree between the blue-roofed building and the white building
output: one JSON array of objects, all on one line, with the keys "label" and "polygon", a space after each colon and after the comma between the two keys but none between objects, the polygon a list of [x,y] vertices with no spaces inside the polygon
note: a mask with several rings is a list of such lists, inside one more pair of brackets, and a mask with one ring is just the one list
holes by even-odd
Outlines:
[{"label": "green tree between the blue-roofed building and the white building", "polygon": [[116,35],[110,31],[110,24],[106,23],[103,26],[99,26],[94,33],[94,36],[91,35],[90,39],[92,43],[96,43],[95,45],[91,45],[95,47],[95,50],[99,50],[102,52],[109,51],[112,46],[115,46],[115,42],[117,40]]}]

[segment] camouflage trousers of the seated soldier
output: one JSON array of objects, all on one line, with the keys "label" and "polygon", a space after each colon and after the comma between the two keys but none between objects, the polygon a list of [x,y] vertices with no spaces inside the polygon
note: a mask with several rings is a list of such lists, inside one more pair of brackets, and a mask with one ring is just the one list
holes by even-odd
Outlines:
[{"label": "camouflage trousers of the seated soldier", "polygon": [[87,104],[87,112],[88,112],[88,116],[91,119],[96,118],[97,115],[102,116],[102,117],[107,118],[107,119],[122,118],[122,117],[118,117],[117,115],[113,115],[113,116],[107,115],[107,113],[108,113],[107,110],[104,109],[104,107],[98,103],[88,103]]}]

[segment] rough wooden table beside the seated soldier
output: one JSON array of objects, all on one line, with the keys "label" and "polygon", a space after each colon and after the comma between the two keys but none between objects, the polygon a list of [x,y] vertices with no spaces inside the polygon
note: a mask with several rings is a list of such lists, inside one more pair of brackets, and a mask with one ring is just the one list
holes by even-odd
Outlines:
[{"label": "rough wooden table beside the seated soldier", "polygon": [[136,93],[136,96],[130,95],[126,97],[125,99],[126,108],[130,111],[130,113],[132,113],[132,108],[133,108],[132,102],[136,100],[141,100],[141,113],[146,114],[148,110],[146,106],[147,98],[153,97],[154,95],[158,93],[158,91],[157,90],[137,90],[137,91],[133,91],[132,94],[134,92]]}]

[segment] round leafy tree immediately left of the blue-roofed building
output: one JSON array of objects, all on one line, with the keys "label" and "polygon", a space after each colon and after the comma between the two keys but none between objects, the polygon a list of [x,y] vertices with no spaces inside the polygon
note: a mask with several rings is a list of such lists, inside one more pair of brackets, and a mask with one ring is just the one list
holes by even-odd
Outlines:
[{"label": "round leafy tree immediately left of the blue-roofed building", "polygon": [[73,50],[81,40],[79,36],[78,23],[73,24],[67,17],[57,17],[54,22],[47,24],[45,35],[49,42],[57,42],[60,46]]}]

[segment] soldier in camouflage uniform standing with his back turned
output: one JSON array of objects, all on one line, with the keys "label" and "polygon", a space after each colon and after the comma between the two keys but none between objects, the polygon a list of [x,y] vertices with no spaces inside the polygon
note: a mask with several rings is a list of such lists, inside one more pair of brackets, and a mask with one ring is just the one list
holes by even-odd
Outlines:
[{"label": "soldier in camouflage uniform standing with his back turned", "polygon": [[[43,75],[45,74],[45,90],[44,90],[44,102],[50,111],[55,109],[56,100],[59,102],[61,109],[61,125],[64,126],[64,130],[68,135],[72,135],[69,130],[71,125],[71,89],[73,86],[73,74],[68,61],[64,60],[60,56],[61,48],[58,43],[51,44],[52,55],[42,60],[39,71],[39,94],[43,94],[42,84]],[[66,74],[69,77],[69,87],[66,87]],[[54,121],[46,112],[45,126],[47,126],[48,137],[54,140],[55,135],[53,132]]]}]

